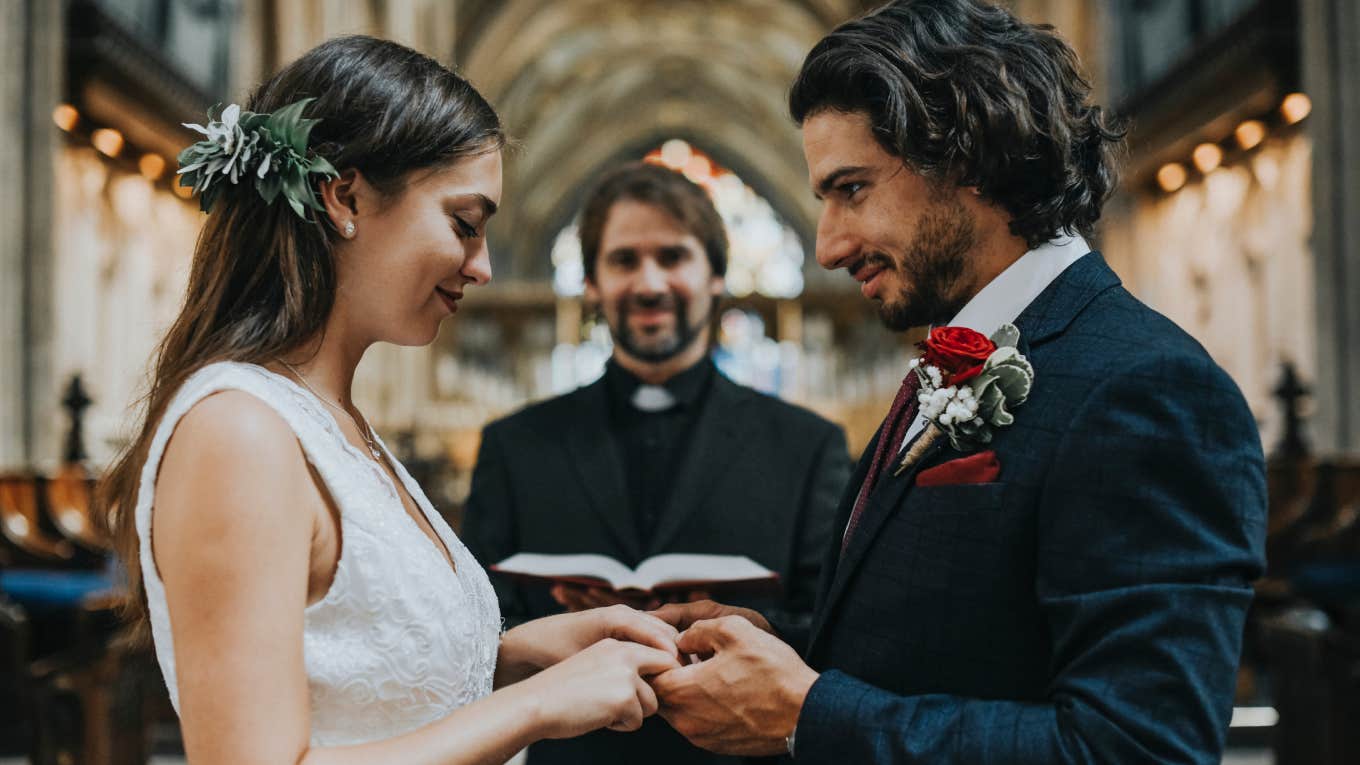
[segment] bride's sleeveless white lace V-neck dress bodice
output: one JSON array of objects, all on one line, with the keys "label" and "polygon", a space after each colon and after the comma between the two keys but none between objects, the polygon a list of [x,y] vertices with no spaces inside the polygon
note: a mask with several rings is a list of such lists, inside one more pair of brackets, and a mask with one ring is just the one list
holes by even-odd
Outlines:
[{"label": "bride's sleeveless white lace V-neck dress bodice", "polygon": [[305,611],[303,657],[311,743],[392,738],[491,693],[500,613],[487,574],[386,452],[449,549],[447,559],[407,515],[388,474],[351,445],[326,407],[287,377],[222,362],[194,373],[156,426],[141,470],[136,520],[156,659],[180,709],[165,587],[151,555],[155,479],[175,423],[209,393],[245,391],[292,427],[340,510],[341,551],[325,598]]}]

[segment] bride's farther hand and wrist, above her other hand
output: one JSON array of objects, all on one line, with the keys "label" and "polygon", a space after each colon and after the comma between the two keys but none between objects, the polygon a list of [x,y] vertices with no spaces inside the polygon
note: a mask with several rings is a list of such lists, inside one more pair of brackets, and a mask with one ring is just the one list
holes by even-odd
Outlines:
[{"label": "bride's farther hand and wrist, above her other hand", "polygon": [[636,642],[679,657],[679,630],[627,606],[558,614],[525,622],[500,638],[496,685],[524,679],[605,638]]}]

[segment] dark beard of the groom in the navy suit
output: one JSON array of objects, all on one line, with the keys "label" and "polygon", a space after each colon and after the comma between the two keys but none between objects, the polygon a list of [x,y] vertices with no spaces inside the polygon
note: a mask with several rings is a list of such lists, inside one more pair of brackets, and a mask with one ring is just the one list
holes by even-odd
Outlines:
[{"label": "dark beard of the groom in the navy suit", "polygon": [[898,294],[879,302],[879,320],[894,332],[952,320],[972,297],[966,289],[968,253],[978,242],[976,221],[957,199],[936,201],[921,214],[900,259],[874,252],[865,264],[894,272]]}]

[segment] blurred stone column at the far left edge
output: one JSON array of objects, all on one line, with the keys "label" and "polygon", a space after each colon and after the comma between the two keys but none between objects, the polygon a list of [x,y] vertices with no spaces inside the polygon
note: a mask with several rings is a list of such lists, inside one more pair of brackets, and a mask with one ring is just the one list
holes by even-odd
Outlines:
[{"label": "blurred stone column at the far left edge", "polygon": [[56,453],[52,123],[63,75],[61,3],[0,0],[0,468]]}]

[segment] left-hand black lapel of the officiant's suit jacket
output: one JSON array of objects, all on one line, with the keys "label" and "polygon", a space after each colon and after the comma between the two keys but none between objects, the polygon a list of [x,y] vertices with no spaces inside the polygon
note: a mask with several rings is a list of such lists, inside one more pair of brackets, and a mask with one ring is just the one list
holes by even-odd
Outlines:
[{"label": "left-hand black lapel of the officiant's suit jacket", "polygon": [[609,410],[604,380],[582,388],[578,395],[585,417],[566,427],[563,442],[567,455],[590,506],[613,532],[619,546],[636,562],[642,558],[642,540],[638,538],[636,520],[628,509],[623,460],[605,427]]}]

